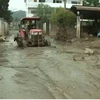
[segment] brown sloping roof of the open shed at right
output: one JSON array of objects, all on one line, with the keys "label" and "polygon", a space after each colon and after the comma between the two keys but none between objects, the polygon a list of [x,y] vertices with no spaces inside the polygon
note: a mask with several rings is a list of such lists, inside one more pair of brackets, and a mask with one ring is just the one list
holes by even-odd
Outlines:
[{"label": "brown sloping roof of the open shed at right", "polygon": [[72,6],[70,10],[75,14],[79,11],[83,19],[100,19],[100,7]]}]

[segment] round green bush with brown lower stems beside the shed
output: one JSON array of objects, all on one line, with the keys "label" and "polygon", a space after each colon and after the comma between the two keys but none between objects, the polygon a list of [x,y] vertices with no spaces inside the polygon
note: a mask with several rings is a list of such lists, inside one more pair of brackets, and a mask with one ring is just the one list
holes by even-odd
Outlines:
[{"label": "round green bush with brown lower stems beside the shed", "polygon": [[[51,22],[57,26],[57,39],[66,41],[69,38],[69,28],[74,28],[75,26],[76,15],[64,8],[57,8],[52,14]],[[72,30],[71,33],[73,33]]]}]

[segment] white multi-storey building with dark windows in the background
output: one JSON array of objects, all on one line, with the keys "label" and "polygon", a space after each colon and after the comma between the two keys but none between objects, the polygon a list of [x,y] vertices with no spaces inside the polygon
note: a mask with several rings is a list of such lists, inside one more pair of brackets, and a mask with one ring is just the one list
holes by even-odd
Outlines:
[{"label": "white multi-storey building with dark windows in the background", "polygon": [[[51,7],[64,7],[63,0],[24,0],[26,3],[27,11],[26,16],[32,17],[35,15],[35,10],[38,4],[47,4]],[[67,0],[66,8],[70,8],[72,5],[82,5],[83,0]]]}]

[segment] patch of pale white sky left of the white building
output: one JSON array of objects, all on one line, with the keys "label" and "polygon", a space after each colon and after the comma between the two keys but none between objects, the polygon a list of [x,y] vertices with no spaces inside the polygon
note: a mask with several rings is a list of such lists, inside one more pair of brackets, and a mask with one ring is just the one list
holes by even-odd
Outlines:
[{"label": "patch of pale white sky left of the white building", "polygon": [[10,0],[9,2],[9,10],[17,11],[17,10],[26,10],[26,6],[24,0]]}]

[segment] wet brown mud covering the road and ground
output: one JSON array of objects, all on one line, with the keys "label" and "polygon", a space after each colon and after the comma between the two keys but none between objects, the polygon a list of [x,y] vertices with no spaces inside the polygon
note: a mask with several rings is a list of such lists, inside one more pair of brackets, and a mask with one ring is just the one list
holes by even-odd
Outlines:
[{"label": "wet brown mud covering the road and ground", "polygon": [[100,98],[99,39],[65,44],[51,38],[51,47],[22,49],[13,36],[0,43],[0,99]]}]

